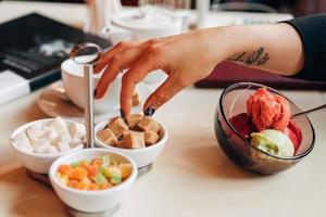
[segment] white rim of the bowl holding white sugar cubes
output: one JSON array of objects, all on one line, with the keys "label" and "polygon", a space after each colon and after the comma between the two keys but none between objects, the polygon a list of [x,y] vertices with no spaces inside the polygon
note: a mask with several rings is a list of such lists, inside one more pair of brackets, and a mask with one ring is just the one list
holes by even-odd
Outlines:
[{"label": "white rim of the bowl holding white sugar cubes", "polygon": [[[52,158],[52,157],[60,157],[60,156],[63,156],[63,155],[66,155],[66,154],[70,154],[71,152],[74,152],[74,151],[77,151],[77,150],[82,150],[83,146],[75,146],[68,151],[65,151],[65,152],[59,152],[59,153],[55,153],[55,154],[50,154],[50,153],[45,153],[45,154],[41,154],[41,153],[34,153],[33,151],[29,152],[29,151],[26,151],[26,150],[23,150],[21,148],[17,146],[17,144],[15,143],[14,141],[14,136],[16,136],[17,133],[22,132],[23,129],[28,129],[28,127],[30,127],[32,125],[34,124],[37,124],[37,123],[49,123],[53,119],[55,119],[57,117],[52,117],[52,118],[42,118],[42,119],[36,119],[36,120],[33,120],[33,122],[28,122],[28,123],[25,123],[21,126],[18,126],[17,128],[15,128],[11,136],[10,136],[10,144],[11,146],[16,150],[17,152],[22,153],[22,154],[25,154],[25,155],[29,155],[29,156],[34,156],[34,157],[39,157],[39,158]],[[66,119],[66,118],[62,118],[60,117],[64,123],[66,124],[73,124],[73,123],[78,123],[78,122],[75,122],[75,120],[71,120],[71,119]],[[82,123],[78,123],[78,124],[82,124]],[[24,131],[24,132],[25,132]]]}]

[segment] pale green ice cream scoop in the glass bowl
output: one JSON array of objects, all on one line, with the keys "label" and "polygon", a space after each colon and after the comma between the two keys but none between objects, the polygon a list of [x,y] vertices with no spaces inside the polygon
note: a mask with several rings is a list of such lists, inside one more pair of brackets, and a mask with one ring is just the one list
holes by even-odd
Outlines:
[{"label": "pale green ice cream scoop in the glass bowl", "polygon": [[276,156],[293,156],[294,148],[290,138],[281,131],[265,129],[251,133],[251,144]]}]

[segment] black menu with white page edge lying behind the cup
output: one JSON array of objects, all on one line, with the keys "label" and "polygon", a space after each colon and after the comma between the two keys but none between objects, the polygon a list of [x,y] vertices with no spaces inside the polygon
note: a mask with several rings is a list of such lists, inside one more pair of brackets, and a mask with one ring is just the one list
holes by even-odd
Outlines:
[{"label": "black menu with white page edge lying behind the cup", "polygon": [[111,42],[37,13],[0,24],[0,104],[60,79],[60,64],[80,42]]}]

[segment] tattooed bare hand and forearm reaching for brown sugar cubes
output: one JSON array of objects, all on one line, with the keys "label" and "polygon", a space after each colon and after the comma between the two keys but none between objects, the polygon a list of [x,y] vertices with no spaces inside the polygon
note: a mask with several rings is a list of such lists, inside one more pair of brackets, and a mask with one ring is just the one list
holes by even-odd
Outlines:
[{"label": "tattooed bare hand and forearm reaching for brown sugar cubes", "polygon": [[[289,56],[291,61],[285,61]],[[150,72],[162,69],[167,79],[143,105],[145,111],[150,106],[159,108],[184,88],[206,77],[226,59],[280,75],[294,75],[303,67],[304,52],[298,33],[288,24],[216,27],[121,42],[95,68],[99,73],[108,66],[95,97],[102,98],[118,73],[128,69],[122,78],[120,99],[122,111],[128,115],[135,86]]]}]

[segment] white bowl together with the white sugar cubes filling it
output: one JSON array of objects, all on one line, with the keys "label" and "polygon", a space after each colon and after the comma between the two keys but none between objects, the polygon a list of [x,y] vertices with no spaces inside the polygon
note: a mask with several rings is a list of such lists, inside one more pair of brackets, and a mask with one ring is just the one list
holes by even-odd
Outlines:
[{"label": "white bowl together with the white sugar cubes filling it", "polygon": [[85,135],[83,124],[57,117],[18,127],[11,135],[10,142],[23,166],[48,174],[58,157],[84,148]]}]

